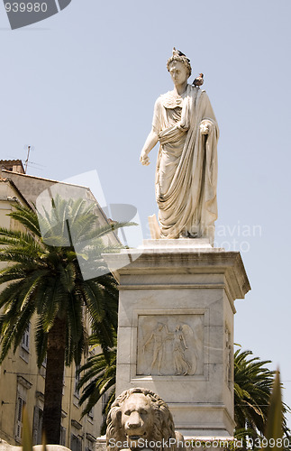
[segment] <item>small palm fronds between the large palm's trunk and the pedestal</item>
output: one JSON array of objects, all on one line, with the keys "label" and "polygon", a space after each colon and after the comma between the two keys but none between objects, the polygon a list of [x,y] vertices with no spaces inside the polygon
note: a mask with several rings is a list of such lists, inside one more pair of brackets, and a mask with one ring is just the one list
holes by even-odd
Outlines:
[{"label": "small palm fronds between the large palm's trunk and the pedestal", "polygon": [[[98,337],[92,335],[89,337],[89,345],[92,345],[92,350],[100,345]],[[79,404],[84,404],[86,407],[82,411],[82,418],[89,413],[95,406],[96,402],[107,395],[107,400],[103,409],[103,414],[107,416],[111,404],[115,399],[115,382],[116,382],[116,346],[117,340],[114,338],[114,347],[106,355],[104,353],[91,355],[86,364],[82,365],[78,373],[83,375],[78,382],[78,390],[83,388],[82,396]],[[84,373],[85,372],[85,373]],[[85,388],[84,388],[85,386]],[[101,426],[101,434],[105,434],[105,421]]]}]

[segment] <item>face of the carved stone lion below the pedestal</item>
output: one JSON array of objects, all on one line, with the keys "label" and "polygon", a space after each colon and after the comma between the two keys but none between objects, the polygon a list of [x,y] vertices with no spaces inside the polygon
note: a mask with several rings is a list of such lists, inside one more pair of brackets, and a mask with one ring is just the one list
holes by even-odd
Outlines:
[{"label": "face of the carved stone lion below the pedestal", "polygon": [[[122,426],[130,447],[142,447],[139,446],[139,439],[150,440],[154,413],[150,400],[142,393],[132,393],[123,402]],[[137,446],[134,446],[134,442]],[[132,443],[133,446],[131,446]]]}]

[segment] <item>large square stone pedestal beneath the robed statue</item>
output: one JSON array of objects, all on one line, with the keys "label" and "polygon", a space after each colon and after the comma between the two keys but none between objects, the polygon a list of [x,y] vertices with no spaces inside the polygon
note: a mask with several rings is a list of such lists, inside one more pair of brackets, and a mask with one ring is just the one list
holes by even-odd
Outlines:
[{"label": "large square stone pedestal beneath the robed statue", "polygon": [[[107,255],[112,268],[128,253]],[[206,240],[145,240],[120,279],[116,393],[155,391],[178,431],[232,436],[234,299],[250,290],[241,254]]]}]

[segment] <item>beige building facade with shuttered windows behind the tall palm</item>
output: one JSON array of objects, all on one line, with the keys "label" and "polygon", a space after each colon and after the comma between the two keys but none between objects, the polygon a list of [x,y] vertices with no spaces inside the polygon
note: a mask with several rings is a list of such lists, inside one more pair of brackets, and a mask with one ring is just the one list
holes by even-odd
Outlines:
[{"label": "beige building facade with shuttered windows behind the tall palm", "polygon": [[[1,169],[2,168],[2,169]],[[14,220],[7,216],[15,203],[32,207],[41,192],[52,189],[58,182],[24,174],[21,161],[0,161],[0,225],[15,229]],[[85,187],[60,184],[79,197],[95,201],[99,226],[108,220],[91,191]],[[64,191],[64,192],[65,192]],[[115,235],[110,240],[118,242]],[[2,267],[5,263],[0,263]],[[21,345],[15,354],[10,351],[0,365],[0,438],[11,445],[21,445],[23,432],[23,406],[25,405],[32,426],[33,444],[41,444],[42,412],[46,362],[37,366],[33,338],[34,320],[27,326]],[[77,391],[78,377],[75,364],[65,368],[61,442],[72,451],[91,451],[100,435],[103,421],[102,401],[97,403],[83,419]]]}]

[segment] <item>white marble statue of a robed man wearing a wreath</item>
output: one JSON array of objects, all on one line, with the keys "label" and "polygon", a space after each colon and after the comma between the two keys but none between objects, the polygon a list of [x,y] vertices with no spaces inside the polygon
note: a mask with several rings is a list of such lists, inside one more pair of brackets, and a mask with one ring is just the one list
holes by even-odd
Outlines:
[{"label": "white marble statue of a robed man wearing a wreath", "polygon": [[204,90],[187,84],[190,60],[173,50],[167,69],[174,89],[159,96],[141,163],[159,141],[156,198],[161,238],[208,237],[214,243],[217,218],[219,130]]}]

